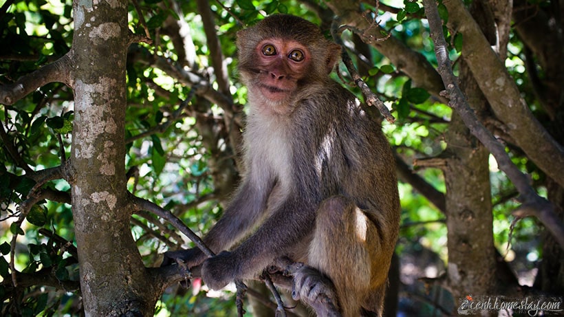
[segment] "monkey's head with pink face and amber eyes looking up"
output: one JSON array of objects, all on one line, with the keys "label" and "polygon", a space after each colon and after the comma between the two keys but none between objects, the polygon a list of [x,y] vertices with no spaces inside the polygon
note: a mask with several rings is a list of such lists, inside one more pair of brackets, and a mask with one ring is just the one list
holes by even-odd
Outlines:
[{"label": "monkey's head with pink face and amber eyes looking up", "polygon": [[250,98],[273,105],[288,105],[301,87],[327,80],[340,54],[317,25],[286,14],[237,32],[237,47]]}]

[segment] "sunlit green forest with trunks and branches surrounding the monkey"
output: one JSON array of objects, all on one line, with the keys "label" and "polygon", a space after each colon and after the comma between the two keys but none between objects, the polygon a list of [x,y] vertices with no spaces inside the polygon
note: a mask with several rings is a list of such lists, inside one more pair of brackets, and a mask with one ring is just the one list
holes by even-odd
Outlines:
[{"label": "sunlit green forest with trunks and branches surrounding the monkey", "polygon": [[[563,2],[424,2],[3,1],[0,314],[235,314],[232,288],[158,266],[193,246],[177,219],[202,237],[237,186],[235,34],[274,13],[339,26],[395,117],[373,113],[402,201],[387,315],[562,296]],[[333,76],[365,99],[343,63]],[[248,314],[272,316],[250,289]]]}]

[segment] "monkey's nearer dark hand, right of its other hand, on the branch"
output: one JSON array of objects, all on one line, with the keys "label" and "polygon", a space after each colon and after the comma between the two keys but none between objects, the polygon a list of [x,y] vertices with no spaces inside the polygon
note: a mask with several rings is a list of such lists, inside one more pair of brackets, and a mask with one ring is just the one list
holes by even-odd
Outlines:
[{"label": "monkey's nearer dark hand, right of its other hand, on the branch", "polygon": [[223,251],[202,265],[202,279],[210,289],[221,289],[237,278],[238,261],[232,252]]}]

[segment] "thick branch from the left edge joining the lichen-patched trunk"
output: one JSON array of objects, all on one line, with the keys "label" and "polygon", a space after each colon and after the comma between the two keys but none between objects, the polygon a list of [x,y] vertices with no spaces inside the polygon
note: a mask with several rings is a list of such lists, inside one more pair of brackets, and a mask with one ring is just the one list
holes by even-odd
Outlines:
[{"label": "thick branch from the left edge joining the lichen-patched trunk", "polygon": [[0,102],[14,105],[21,98],[28,96],[35,89],[48,83],[64,83],[72,87],[70,70],[72,69],[72,50],[51,64],[37,69],[31,74],[22,76],[16,83],[0,85]]}]

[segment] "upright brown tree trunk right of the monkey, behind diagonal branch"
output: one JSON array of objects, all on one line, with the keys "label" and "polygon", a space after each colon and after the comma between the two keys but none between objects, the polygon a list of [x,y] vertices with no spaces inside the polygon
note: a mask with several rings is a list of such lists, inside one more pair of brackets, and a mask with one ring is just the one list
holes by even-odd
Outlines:
[{"label": "upright brown tree trunk right of the monkey, behind diagonal branch", "polygon": [[[484,109],[485,99],[464,62],[460,69],[468,102],[476,111]],[[453,113],[445,138],[450,155],[444,171],[448,288],[458,301],[468,294],[492,294],[495,289],[489,153],[457,113]]]}]

